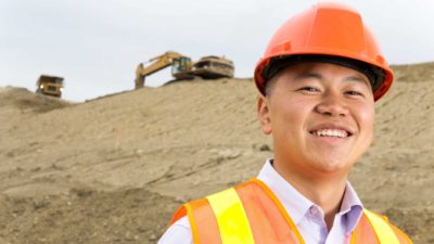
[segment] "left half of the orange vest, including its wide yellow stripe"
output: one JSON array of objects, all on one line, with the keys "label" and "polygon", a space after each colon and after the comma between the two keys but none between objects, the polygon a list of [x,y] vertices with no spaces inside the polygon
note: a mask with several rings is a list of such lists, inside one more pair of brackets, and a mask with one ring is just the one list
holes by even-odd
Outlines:
[{"label": "left half of the orange vest, including its wide yellow stripe", "polygon": [[281,208],[251,180],[182,205],[171,223],[187,216],[194,244],[304,244]]}]

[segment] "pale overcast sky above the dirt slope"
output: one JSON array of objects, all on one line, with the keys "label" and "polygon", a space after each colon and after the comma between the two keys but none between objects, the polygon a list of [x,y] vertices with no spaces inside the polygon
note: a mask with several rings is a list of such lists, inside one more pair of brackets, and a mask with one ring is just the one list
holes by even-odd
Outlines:
[{"label": "pale overcast sky above the dirt slope", "polygon": [[[177,51],[225,55],[253,69],[277,28],[317,0],[0,0],[0,87],[31,91],[39,75],[65,78],[63,98],[133,89],[139,63]],[[358,10],[388,63],[434,61],[434,1],[342,0]],[[169,68],[146,86],[170,80]]]}]

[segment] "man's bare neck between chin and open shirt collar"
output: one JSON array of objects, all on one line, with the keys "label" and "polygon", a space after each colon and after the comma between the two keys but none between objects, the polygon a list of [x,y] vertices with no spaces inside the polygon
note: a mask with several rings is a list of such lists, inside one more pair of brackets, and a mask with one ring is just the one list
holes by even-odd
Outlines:
[{"label": "man's bare neck between chin and open shirt collar", "polygon": [[319,174],[318,176],[309,175],[303,177],[303,174],[293,172],[279,164],[273,164],[273,167],[301,194],[321,207],[324,213],[324,221],[330,231],[334,216],[341,208],[347,175],[324,176]]}]

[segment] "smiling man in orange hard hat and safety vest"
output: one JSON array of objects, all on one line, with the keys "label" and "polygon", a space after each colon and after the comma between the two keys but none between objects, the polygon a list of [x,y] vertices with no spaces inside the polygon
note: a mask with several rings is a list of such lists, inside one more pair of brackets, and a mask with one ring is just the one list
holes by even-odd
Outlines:
[{"label": "smiling man in orange hard hat and safety vest", "polygon": [[273,158],[256,179],[183,205],[158,243],[411,243],[347,182],[392,80],[354,10],[318,3],[291,18],[255,69]]}]

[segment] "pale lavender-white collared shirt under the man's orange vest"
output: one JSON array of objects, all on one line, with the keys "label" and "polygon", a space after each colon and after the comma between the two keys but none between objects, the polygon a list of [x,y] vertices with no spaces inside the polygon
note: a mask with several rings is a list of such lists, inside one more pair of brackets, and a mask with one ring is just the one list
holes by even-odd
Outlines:
[{"label": "pale lavender-white collared shirt under the man's orange vest", "polygon": [[[258,179],[276,194],[293,219],[306,244],[347,244],[352,231],[362,214],[362,205],[355,190],[346,183],[341,209],[334,217],[330,232],[322,209],[302,195],[285,181],[268,159]],[[158,244],[192,244],[190,222],[187,217],[176,221],[159,239]]]}]

